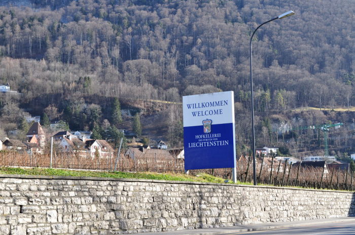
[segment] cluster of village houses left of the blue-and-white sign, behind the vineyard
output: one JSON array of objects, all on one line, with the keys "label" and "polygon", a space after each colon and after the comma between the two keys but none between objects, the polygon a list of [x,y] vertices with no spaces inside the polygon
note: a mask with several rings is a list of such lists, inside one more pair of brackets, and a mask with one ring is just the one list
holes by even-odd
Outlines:
[{"label": "cluster of village houses left of the blue-and-white sign, behind the vineyard", "polygon": [[[40,116],[27,117],[29,123],[33,123],[26,133],[27,141],[21,142],[17,139],[0,139],[0,150],[27,152],[28,154],[43,154],[46,143],[46,133],[40,124]],[[56,129],[56,123],[50,124],[50,128]],[[124,133],[124,130],[120,130]],[[99,157],[108,158],[114,155],[115,150],[112,145],[103,139],[92,139],[92,131],[59,131],[53,136],[53,146],[56,150],[67,155],[79,157]],[[140,143],[133,143],[128,146],[125,155],[131,159],[156,158],[160,160],[183,159],[183,149],[168,149],[168,145],[160,140],[156,146],[144,146]]]}]

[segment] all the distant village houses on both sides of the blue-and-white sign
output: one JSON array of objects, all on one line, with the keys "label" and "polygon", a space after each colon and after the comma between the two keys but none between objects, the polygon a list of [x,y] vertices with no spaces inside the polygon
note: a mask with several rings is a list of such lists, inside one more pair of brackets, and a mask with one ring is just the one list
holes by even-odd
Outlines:
[{"label": "all the distant village houses on both sides of the blue-and-white sign", "polygon": [[[46,133],[40,124],[40,116],[27,117],[26,119],[27,122],[33,123],[26,133],[27,141],[21,142],[20,140],[6,138],[5,140],[0,140],[0,150],[43,154],[43,150],[46,145],[48,146],[48,143],[46,143]],[[56,123],[52,123],[51,127],[55,129]],[[121,131],[124,133],[124,130]],[[67,155],[111,158],[114,156],[115,151],[117,153],[117,150],[107,140],[92,139],[91,134],[91,131],[59,131],[51,136],[50,139],[57,151]],[[349,163],[337,161],[333,156],[309,156],[304,157],[300,161],[292,157],[278,156],[277,153],[277,147],[265,146],[263,148],[256,148],[258,168],[269,168],[269,171],[271,171],[272,166],[275,167],[282,162],[282,165],[291,164],[293,167],[322,168],[326,174],[332,168],[349,169]],[[170,149],[163,140],[160,140],[156,146],[144,146],[140,143],[130,144],[125,150],[124,155],[132,160],[155,159],[157,161],[157,156],[159,156],[159,161],[184,160],[184,149]],[[355,160],[355,153],[352,153],[350,157]],[[244,156],[237,156],[237,164],[239,164],[239,167],[244,166],[245,168],[248,160]],[[281,167],[280,172],[283,171],[283,168],[285,167]]]}]

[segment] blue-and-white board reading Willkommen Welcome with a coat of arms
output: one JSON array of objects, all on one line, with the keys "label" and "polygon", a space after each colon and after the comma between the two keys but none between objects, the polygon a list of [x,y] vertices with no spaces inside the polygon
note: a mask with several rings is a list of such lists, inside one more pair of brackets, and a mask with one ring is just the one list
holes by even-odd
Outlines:
[{"label": "blue-and-white board reading Willkommen Welcome with a coat of arms", "polygon": [[183,97],[185,170],[235,168],[234,92]]}]

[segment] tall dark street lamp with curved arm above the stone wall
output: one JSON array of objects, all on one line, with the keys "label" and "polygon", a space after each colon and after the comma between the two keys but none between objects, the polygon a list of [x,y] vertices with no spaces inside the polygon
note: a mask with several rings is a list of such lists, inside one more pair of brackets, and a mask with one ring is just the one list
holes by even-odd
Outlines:
[{"label": "tall dark street lamp with curved arm above the stone wall", "polygon": [[295,13],[293,11],[288,11],[286,13],[283,13],[282,15],[279,15],[278,17],[271,19],[269,21],[266,21],[262,23],[261,25],[256,28],[252,34],[252,37],[250,38],[250,91],[251,91],[251,96],[252,96],[252,134],[253,134],[253,179],[254,179],[254,185],[257,185],[257,173],[256,173],[256,166],[255,166],[255,129],[254,129],[254,98],[253,98],[253,70],[252,70],[252,39],[255,34],[255,32],[264,24],[269,23],[273,20],[277,19],[283,19],[289,16],[294,15]]}]

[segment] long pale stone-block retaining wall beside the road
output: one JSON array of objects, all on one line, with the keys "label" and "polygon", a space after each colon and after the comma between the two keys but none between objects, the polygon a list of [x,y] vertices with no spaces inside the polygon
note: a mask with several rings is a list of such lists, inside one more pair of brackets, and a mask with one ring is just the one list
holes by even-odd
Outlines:
[{"label": "long pale stone-block retaining wall beside the road", "polygon": [[0,234],[119,234],[354,216],[354,194],[286,187],[0,175]]}]

